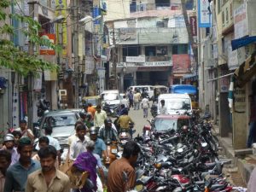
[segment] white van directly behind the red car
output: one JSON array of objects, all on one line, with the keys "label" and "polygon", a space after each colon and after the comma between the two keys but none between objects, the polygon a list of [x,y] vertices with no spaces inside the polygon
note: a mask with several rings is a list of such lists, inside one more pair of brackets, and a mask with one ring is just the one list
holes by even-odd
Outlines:
[{"label": "white van directly behind the red car", "polygon": [[165,106],[168,114],[183,114],[186,111],[192,111],[192,102],[188,94],[161,94],[158,96],[158,114],[160,114],[159,108],[161,100],[165,100]]}]

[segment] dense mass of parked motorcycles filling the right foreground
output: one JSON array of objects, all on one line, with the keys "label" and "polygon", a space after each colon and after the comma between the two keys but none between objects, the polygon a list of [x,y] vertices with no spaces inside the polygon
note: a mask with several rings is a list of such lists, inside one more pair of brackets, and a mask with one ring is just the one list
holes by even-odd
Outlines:
[{"label": "dense mass of parked motorcycles filling the right foreground", "polygon": [[[207,118],[177,131],[152,129],[149,137],[146,132],[135,137],[141,154],[132,191],[246,191],[226,181],[222,169],[230,162],[218,158],[218,138],[212,135],[212,124]],[[150,124],[154,126],[154,120]]]}]

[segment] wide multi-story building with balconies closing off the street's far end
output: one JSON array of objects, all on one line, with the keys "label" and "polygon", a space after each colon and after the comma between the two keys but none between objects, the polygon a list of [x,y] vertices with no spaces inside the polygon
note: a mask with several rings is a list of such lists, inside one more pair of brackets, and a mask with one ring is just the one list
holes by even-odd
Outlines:
[{"label": "wide multi-story building with balconies closing off the street's far end", "polygon": [[[118,6],[111,1],[107,4],[108,9]],[[193,9],[194,3],[186,5]],[[191,72],[192,54],[181,2],[132,1],[128,10],[128,18],[122,14],[118,18],[116,13],[112,17],[108,11],[107,18],[114,19],[106,21],[113,55],[117,55],[111,66],[118,74],[119,90],[133,84],[182,83],[183,76]],[[188,12],[192,15],[193,11]]]}]

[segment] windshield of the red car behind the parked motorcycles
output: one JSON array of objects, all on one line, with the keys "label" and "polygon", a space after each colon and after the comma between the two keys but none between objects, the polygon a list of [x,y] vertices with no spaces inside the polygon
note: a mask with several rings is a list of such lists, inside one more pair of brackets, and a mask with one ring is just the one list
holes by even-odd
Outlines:
[{"label": "windshield of the red car behind the parked motorcycles", "polygon": [[154,121],[156,131],[177,130],[183,125],[189,125],[189,119],[161,119],[157,118]]}]

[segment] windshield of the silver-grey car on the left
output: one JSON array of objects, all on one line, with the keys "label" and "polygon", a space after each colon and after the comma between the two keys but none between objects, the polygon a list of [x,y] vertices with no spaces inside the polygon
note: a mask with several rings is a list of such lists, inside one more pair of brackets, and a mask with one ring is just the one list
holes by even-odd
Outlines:
[{"label": "windshield of the silver-grey car on the left", "polygon": [[51,116],[47,117],[44,120],[44,126],[67,126],[67,125],[75,125],[76,123],[75,114],[65,114],[65,115],[58,115],[58,116]]}]

